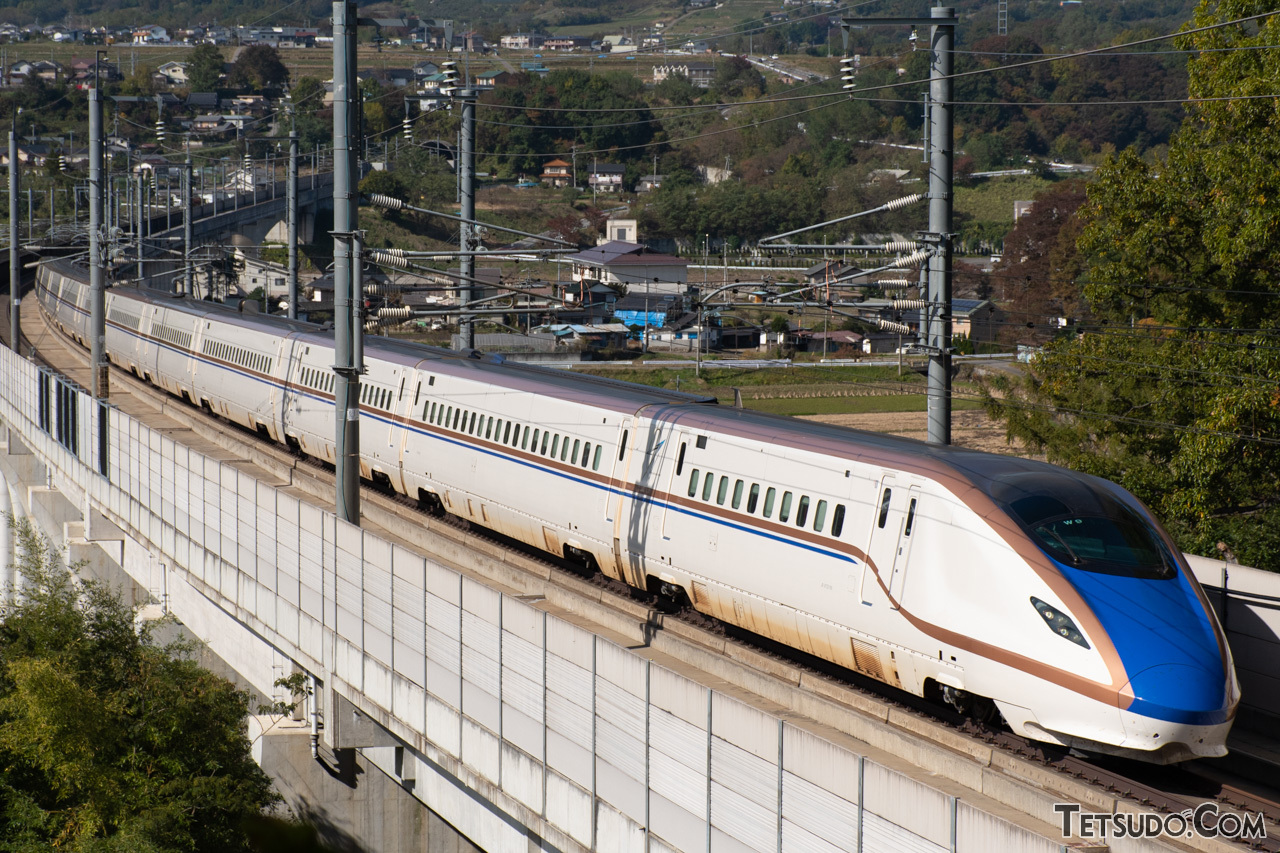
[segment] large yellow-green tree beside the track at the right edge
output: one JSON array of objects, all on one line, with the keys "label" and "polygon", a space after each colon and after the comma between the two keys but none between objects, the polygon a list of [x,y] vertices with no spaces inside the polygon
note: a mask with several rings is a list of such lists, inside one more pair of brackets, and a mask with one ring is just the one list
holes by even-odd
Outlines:
[{"label": "large yellow-green tree beside the track at the right edge", "polygon": [[[1268,12],[1202,3],[1194,27]],[[1096,324],[989,409],[1053,461],[1117,480],[1179,546],[1280,570],[1280,65],[1275,17],[1179,38],[1190,114],[1167,156],[1098,170],[1082,207]],[[1001,398],[1000,394],[1004,394]]]}]

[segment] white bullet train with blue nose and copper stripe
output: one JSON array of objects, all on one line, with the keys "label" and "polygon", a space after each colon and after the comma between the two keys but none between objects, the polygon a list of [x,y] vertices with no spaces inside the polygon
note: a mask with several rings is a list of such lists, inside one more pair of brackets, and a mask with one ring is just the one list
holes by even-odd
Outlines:
[{"label": "white bullet train with blue nose and copper stripe", "polygon": [[[88,339],[83,270],[38,297]],[[334,461],[334,345],[133,288],[106,351]],[[1231,654],[1185,560],[1120,487],[1053,465],[366,338],[361,474],[425,505],[1029,738],[1221,756]]]}]

